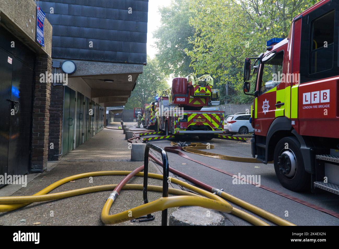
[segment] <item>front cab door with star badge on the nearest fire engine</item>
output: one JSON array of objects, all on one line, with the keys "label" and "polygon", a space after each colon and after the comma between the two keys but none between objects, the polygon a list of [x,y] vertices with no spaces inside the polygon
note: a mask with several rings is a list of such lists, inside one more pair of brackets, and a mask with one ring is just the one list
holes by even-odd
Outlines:
[{"label": "front cab door with star badge on the nearest fire engine", "polygon": [[258,97],[254,102],[254,133],[266,136],[276,117],[284,116],[285,72],[284,49],[287,44],[273,51],[275,56],[260,64],[257,82]]}]

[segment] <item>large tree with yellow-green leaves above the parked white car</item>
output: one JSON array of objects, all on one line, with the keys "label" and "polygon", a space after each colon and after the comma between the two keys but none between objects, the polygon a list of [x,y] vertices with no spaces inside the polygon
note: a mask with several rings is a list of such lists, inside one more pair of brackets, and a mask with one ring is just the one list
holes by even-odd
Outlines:
[{"label": "large tree with yellow-green leaves above the parked white car", "polygon": [[288,36],[293,18],[312,6],[304,0],[191,0],[195,33],[186,49],[197,74],[211,73],[228,85],[228,100],[248,103],[242,94],[243,61],[265,51],[266,41]]}]

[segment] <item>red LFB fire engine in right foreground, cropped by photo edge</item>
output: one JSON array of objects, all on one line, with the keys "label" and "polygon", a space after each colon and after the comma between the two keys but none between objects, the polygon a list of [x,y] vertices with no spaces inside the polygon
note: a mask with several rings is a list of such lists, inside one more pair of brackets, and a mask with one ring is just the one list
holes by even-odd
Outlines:
[{"label": "red LFB fire engine in right foreground, cropped by photo edge", "polygon": [[273,161],[280,183],[293,191],[339,194],[338,32],[339,1],[323,0],[293,19],[286,39],[273,38],[265,53],[245,59],[252,156]]}]

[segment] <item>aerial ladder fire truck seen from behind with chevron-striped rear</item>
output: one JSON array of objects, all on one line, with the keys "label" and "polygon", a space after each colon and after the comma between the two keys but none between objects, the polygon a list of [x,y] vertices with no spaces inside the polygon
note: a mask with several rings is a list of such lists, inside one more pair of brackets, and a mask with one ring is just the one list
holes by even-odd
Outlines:
[{"label": "aerial ladder fire truck seen from behind with chevron-striped rear", "polygon": [[224,112],[203,111],[204,106],[219,105],[219,90],[210,75],[194,74],[172,80],[172,87],[158,90],[156,101],[144,106],[147,128],[165,135],[198,136],[210,140],[224,134]]}]

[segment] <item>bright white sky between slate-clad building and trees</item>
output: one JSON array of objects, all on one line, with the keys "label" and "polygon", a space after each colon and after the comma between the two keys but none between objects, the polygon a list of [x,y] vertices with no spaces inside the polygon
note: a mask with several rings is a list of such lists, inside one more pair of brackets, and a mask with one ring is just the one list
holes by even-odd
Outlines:
[{"label": "bright white sky between slate-clad building and trees", "polygon": [[160,13],[158,8],[168,6],[171,0],[149,0],[148,1],[148,22],[147,22],[147,55],[154,58],[157,49],[152,47],[154,45],[153,31],[157,29],[160,24]]}]

